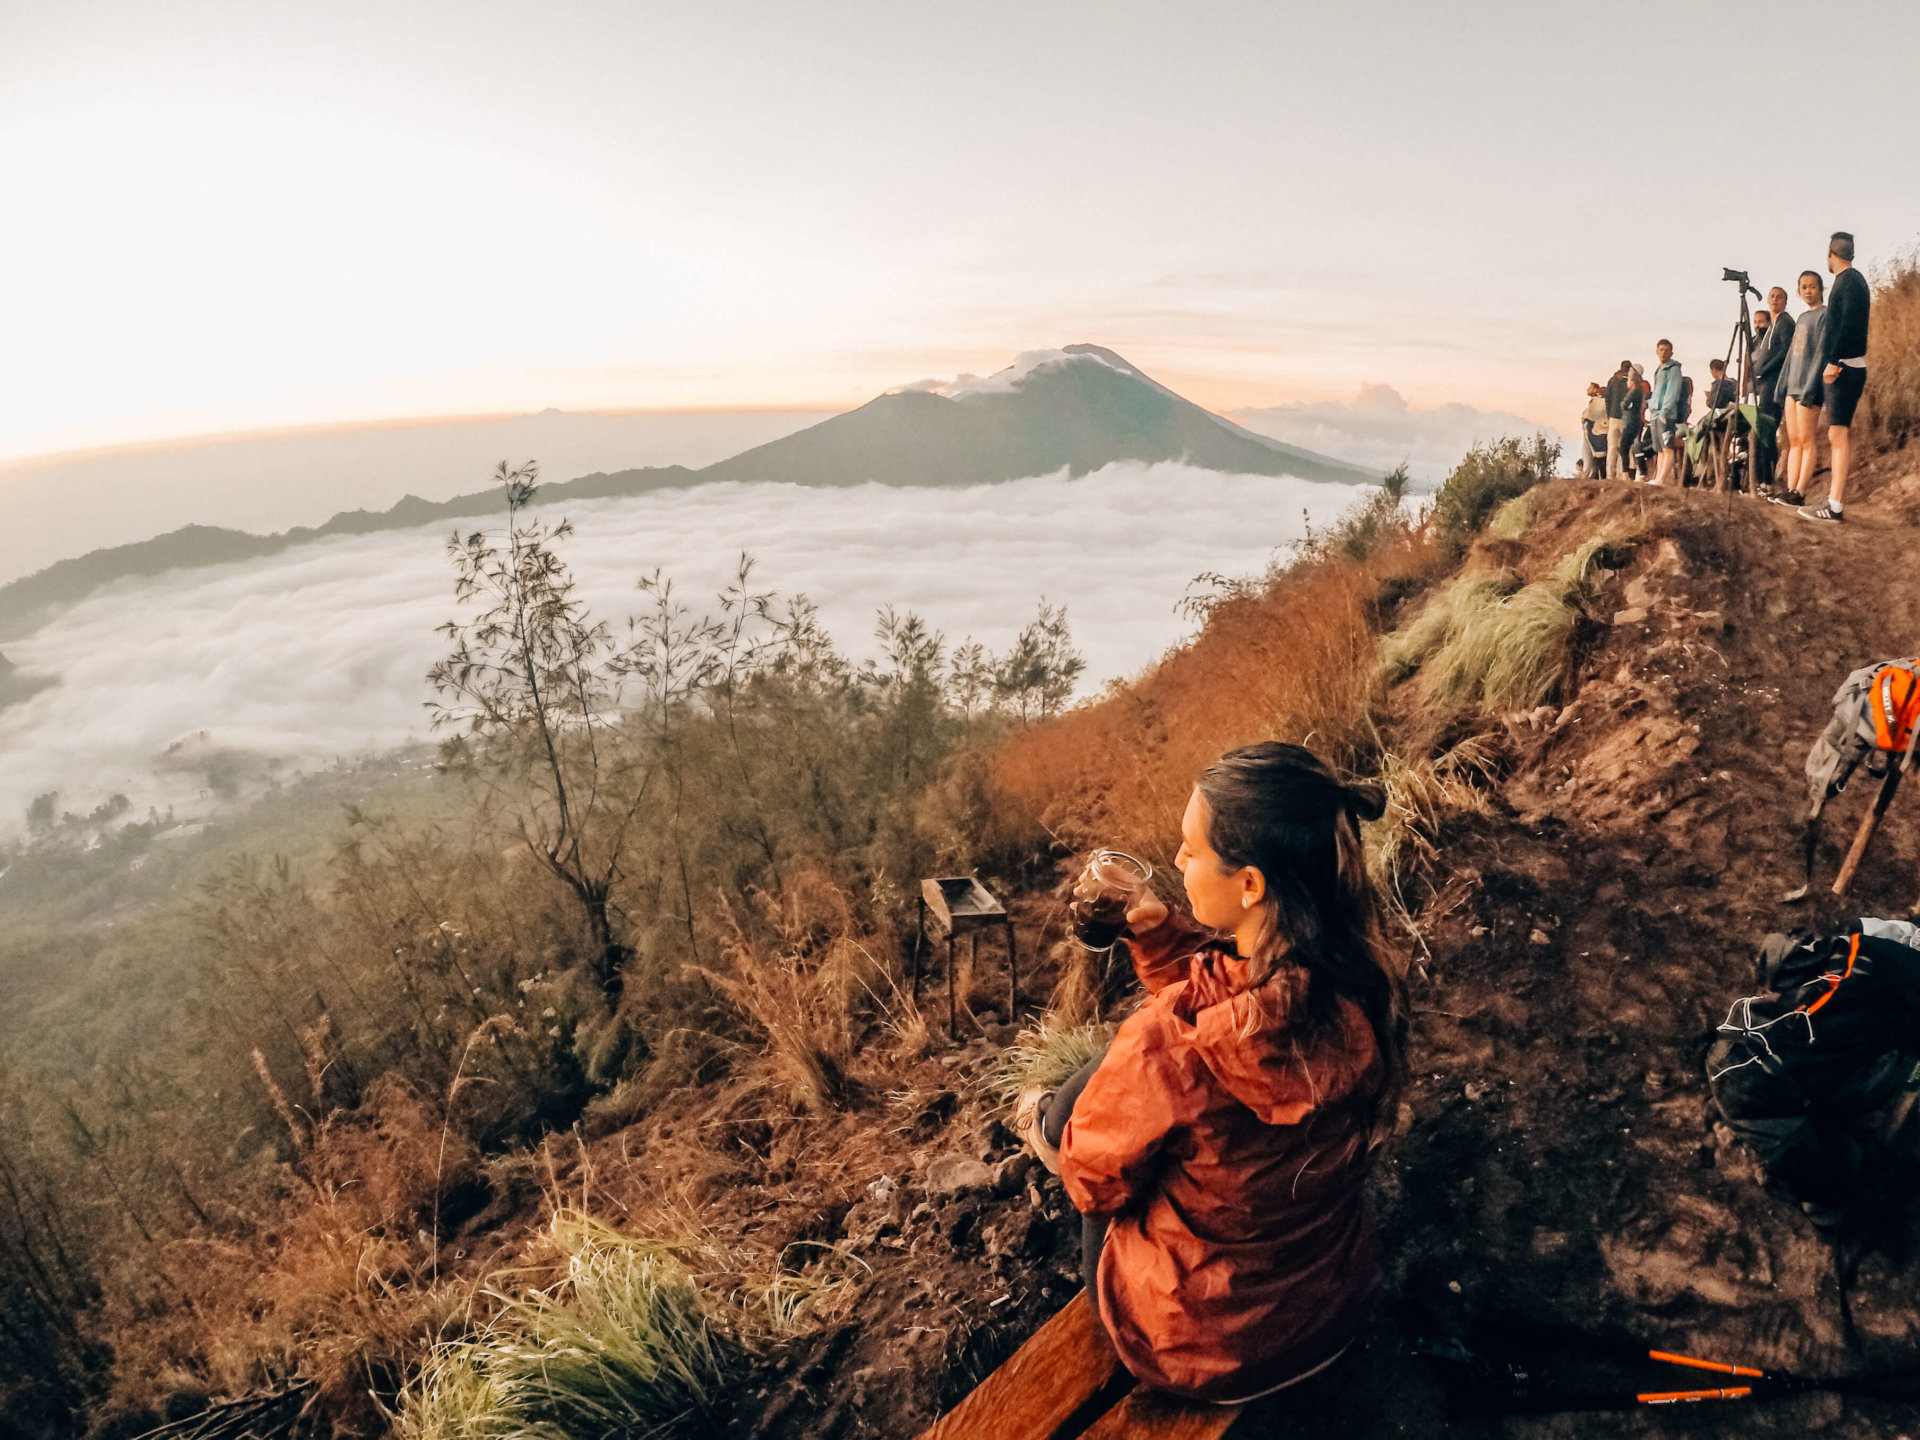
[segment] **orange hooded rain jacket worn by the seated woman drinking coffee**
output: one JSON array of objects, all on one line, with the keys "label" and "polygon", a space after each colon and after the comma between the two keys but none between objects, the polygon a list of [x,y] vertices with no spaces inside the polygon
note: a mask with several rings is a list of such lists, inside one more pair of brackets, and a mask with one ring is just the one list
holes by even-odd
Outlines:
[{"label": "orange hooded rain jacket worn by the seated woman drinking coffee", "polygon": [[1332,1359],[1379,1290],[1365,1204],[1384,1066],[1359,1004],[1308,1037],[1306,972],[1187,916],[1129,941],[1146,1004],[1073,1104],[1060,1177],[1112,1215],[1100,1315],[1140,1382],[1242,1400]]}]

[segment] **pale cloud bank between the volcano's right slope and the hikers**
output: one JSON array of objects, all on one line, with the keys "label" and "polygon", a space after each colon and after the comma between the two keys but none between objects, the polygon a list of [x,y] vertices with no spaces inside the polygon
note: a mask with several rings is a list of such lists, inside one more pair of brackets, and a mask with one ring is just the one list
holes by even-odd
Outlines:
[{"label": "pale cloud bank between the volcano's right slope and the hikers", "polygon": [[[1582,399],[1584,403],[1584,399]],[[1574,424],[1574,417],[1567,420]],[[1342,461],[1390,470],[1405,463],[1417,484],[1438,486],[1459,463],[1459,457],[1482,440],[1503,436],[1548,434],[1567,445],[1569,468],[1574,459],[1574,440],[1553,426],[1538,424],[1505,411],[1480,411],[1473,405],[1436,405],[1430,411],[1413,409],[1392,386],[1371,384],[1348,403],[1334,399],[1302,405],[1267,405],[1233,411],[1231,419],[1248,430],[1283,440],[1288,445],[1317,449]]]}]

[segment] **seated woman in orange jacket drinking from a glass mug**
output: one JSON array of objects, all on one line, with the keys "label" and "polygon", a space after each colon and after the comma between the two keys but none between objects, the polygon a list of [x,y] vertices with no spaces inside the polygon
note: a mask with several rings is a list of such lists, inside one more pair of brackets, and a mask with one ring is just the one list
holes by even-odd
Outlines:
[{"label": "seated woman in orange jacket drinking from a glass mug", "polygon": [[1175,860],[1192,916],[1144,891],[1127,910],[1148,1000],[1021,1104],[1142,1384],[1271,1394],[1331,1365],[1379,1292],[1365,1181],[1405,1056],[1357,824],[1382,808],[1298,745],[1208,766]]}]

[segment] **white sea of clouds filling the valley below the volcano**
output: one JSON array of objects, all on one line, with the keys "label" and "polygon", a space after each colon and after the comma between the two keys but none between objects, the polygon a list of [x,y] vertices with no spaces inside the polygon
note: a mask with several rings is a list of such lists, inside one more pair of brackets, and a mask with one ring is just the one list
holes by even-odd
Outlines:
[{"label": "white sea of clouds filling the valley below the volcano", "polygon": [[[856,659],[883,605],[1000,649],[1044,597],[1068,607],[1092,691],[1190,630],[1177,607],[1194,576],[1256,572],[1357,495],[1133,463],[968,490],[705,484],[566,505],[563,553],[595,614],[622,628],[641,574],[659,566],[705,605],[747,551],[762,588],[812,597]],[[173,804],[188,818],[209,806],[205,774],[184,764],[196,755],[286,776],[430,739],[424,676],[455,612],[445,538],[340,536],[121,582],[8,641],[23,674],[56,684],[0,710],[0,833],[48,789],[79,814],[117,791],[134,816]]]}]

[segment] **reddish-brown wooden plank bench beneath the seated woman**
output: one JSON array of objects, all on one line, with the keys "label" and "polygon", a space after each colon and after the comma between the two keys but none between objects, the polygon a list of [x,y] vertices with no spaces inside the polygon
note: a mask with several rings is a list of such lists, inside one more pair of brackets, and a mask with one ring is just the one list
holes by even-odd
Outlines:
[{"label": "reddish-brown wooden plank bench beneath the seated woman", "polygon": [[1219,1440],[1236,1419],[1135,1390],[1081,1292],[920,1440]]}]

